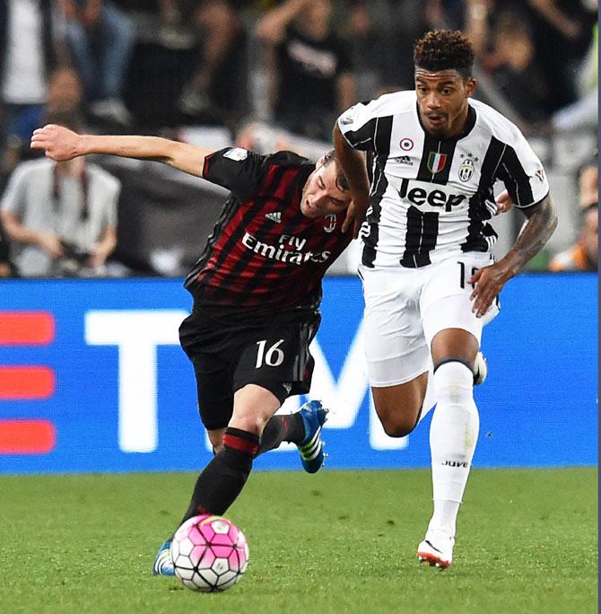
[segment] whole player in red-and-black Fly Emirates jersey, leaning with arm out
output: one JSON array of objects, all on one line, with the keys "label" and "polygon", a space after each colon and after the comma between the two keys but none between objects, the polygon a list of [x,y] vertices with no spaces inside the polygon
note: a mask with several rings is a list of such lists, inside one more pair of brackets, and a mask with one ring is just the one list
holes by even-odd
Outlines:
[{"label": "whole player in red-and-black Fly Emirates jersey, leaning with arm out", "polygon": [[[297,444],[305,470],[317,471],[327,410],[310,401],[296,414],[274,414],[288,396],[309,391],[321,279],[352,239],[342,230],[351,193],[335,153],[314,164],[289,152],[209,151],[154,136],[78,135],[56,125],[37,129],[31,147],[57,161],[88,153],[154,160],[231,190],[185,284],[194,307],[179,338],[194,365],[215,455],[182,522],[225,513],[257,454],[283,441]],[[173,575],[169,545],[157,554],[155,574]]]}]

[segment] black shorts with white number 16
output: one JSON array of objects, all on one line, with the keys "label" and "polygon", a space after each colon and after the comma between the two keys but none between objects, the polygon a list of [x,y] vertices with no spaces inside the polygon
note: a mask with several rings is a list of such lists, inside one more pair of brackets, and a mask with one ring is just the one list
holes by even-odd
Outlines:
[{"label": "black shorts with white number 16", "polygon": [[234,392],[249,383],[283,403],[309,392],[314,360],[309,344],[321,316],[290,311],[271,318],[197,308],[179,327],[179,342],[194,365],[198,410],[208,430],[230,422]]}]

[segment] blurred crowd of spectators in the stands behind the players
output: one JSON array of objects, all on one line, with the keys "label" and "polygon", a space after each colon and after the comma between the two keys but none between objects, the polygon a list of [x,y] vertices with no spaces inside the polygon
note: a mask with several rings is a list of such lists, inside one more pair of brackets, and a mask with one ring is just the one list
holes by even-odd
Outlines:
[{"label": "blurred crowd of spectators in the stands behind the players", "polygon": [[[413,89],[434,28],[466,32],[475,97],[544,162],[560,226],[529,268],[596,270],[597,0],[0,0],[0,276],[180,276],[222,206],[156,163],[39,158],[36,127],[317,159],[342,110]],[[498,255],[522,223],[495,220]]]}]

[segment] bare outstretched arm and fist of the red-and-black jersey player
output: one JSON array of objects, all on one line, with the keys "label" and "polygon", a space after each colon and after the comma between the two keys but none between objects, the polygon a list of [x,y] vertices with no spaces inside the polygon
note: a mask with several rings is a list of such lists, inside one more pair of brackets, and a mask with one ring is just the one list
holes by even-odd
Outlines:
[{"label": "bare outstretched arm and fist of the red-and-black jersey player", "polygon": [[196,177],[203,176],[205,157],[213,150],[160,136],[97,136],[79,135],[63,126],[48,124],[37,128],[31,136],[31,149],[41,149],[57,162],[72,160],[88,153],[105,153],[123,158],[152,160]]}]

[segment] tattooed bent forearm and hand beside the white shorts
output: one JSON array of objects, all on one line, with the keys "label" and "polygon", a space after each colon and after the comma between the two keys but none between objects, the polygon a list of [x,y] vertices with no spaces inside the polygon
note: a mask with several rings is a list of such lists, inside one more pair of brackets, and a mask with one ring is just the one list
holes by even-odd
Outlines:
[{"label": "tattooed bent forearm and hand beside the white shorts", "polygon": [[527,217],[527,223],[514,246],[499,262],[491,267],[479,268],[469,280],[474,286],[472,311],[478,317],[484,315],[503,285],[543,249],[557,227],[557,214],[549,195],[536,205],[522,209],[522,212]]}]

